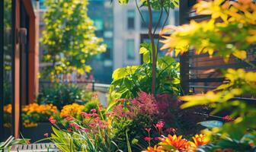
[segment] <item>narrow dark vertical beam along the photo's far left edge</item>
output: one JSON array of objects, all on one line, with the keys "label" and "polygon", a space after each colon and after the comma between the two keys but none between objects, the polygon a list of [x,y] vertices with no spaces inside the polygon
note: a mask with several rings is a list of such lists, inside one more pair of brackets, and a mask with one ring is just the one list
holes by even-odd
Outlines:
[{"label": "narrow dark vertical beam along the photo's far left edge", "polygon": [[0,141],[4,140],[4,1],[0,1]]}]

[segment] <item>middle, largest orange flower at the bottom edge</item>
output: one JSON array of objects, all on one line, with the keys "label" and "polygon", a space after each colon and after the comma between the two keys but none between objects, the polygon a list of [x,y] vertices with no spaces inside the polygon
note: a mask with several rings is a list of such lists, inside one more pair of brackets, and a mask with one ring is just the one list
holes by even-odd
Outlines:
[{"label": "middle, largest orange flower at the bottom edge", "polygon": [[165,147],[165,145],[171,145],[172,147],[175,147],[177,150],[186,150],[187,147],[189,147],[189,142],[186,139],[182,139],[182,135],[176,136],[176,135],[168,135],[167,138],[159,138],[160,142],[159,144]]}]

